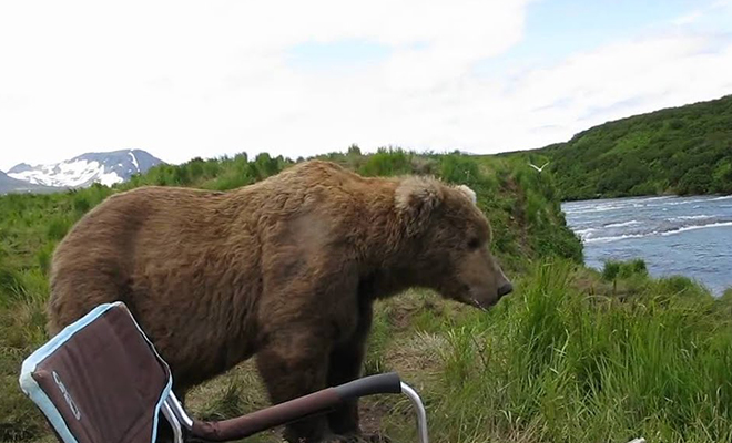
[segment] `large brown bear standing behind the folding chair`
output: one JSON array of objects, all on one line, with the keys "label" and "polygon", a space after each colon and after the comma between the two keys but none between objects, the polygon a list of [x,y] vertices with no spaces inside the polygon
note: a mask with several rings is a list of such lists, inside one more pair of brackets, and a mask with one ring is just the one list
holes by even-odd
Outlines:
[{"label": "large brown bear standing behind the folding chair", "polygon": [[[53,255],[48,331],[121,300],[175,392],[255,356],[273,403],[359,377],[375,300],[411,287],[487,309],[511,291],[475,193],[311,161],[231,192],[141,187],[89,212]],[[285,439],[358,435],[356,403]]]}]

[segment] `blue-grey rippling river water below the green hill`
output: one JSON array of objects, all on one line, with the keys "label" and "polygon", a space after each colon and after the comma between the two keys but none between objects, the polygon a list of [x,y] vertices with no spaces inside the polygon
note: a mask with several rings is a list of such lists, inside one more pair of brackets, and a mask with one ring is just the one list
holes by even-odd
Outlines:
[{"label": "blue-grey rippling river water below the green hill", "polygon": [[716,296],[732,287],[732,196],[568,202],[562,209],[587,266],[642,258],[654,277],[687,276]]}]

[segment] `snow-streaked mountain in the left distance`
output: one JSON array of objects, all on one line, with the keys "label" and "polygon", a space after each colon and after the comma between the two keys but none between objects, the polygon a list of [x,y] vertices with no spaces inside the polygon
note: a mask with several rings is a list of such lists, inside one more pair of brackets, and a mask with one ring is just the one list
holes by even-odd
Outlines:
[{"label": "snow-streaked mountain in the left distance", "polygon": [[48,165],[26,163],[8,171],[11,178],[37,185],[55,187],[87,187],[94,182],[111,186],[128,181],[133,174],[144,173],[163,163],[142,150],[122,150],[87,153],[71,159]]}]

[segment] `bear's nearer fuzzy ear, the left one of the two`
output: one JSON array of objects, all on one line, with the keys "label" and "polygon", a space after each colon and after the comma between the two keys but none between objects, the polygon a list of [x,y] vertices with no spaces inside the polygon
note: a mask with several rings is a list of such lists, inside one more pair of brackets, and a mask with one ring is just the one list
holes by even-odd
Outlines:
[{"label": "bear's nearer fuzzy ear, the left one of the two", "polygon": [[443,188],[433,178],[413,176],[400,181],[394,195],[394,204],[408,236],[426,228],[443,198]]}]

